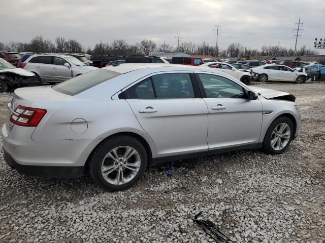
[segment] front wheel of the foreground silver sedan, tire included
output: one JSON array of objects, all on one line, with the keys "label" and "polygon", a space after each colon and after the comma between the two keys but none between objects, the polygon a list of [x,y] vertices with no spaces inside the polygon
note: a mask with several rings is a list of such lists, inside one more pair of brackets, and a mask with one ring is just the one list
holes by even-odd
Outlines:
[{"label": "front wheel of the foreground silver sedan, tire included", "polygon": [[[281,129],[284,126],[285,129],[281,133]],[[278,136],[278,134],[275,132],[275,129],[281,135],[283,136]],[[289,135],[288,135],[289,131]],[[294,137],[294,125],[293,122],[285,116],[280,116],[276,118],[273,123],[270,125],[268,131],[266,132],[266,135],[264,137],[263,141],[263,151],[268,154],[279,154],[284,152],[288,146],[290,145],[291,141],[293,140]],[[272,141],[276,141],[275,144],[272,146]],[[281,142],[279,142],[281,141]],[[282,145],[282,146],[281,146]]]}]

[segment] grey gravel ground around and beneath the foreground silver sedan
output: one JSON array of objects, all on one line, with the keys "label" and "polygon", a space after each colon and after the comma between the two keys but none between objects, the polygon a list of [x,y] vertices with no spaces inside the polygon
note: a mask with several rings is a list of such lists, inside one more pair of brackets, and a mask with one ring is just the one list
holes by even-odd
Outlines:
[{"label": "grey gravel ground around and beneath the foreground silver sedan", "polygon": [[[325,83],[261,86],[301,106],[300,136],[281,155],[200,157],[176,163],[172,177],[150,170],[132,189],[107,193],[86,176],[20,176],[1,151],[0,241],[213,242],[191,220],[203,211],[237,242],[325,242]],[[12,93],[0,97],[3,125]]]}]

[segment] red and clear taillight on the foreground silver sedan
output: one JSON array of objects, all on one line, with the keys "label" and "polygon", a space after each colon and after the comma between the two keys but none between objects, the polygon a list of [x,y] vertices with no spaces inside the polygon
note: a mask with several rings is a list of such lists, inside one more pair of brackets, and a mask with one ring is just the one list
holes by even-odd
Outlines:
[{"label": "red and clear taillight on the foreground silver sedan", "polygon": [[37,127],[45,114],[45,109],[18,105],[15,109],[15,114],[10,116],[10,121],[18,126]]}]

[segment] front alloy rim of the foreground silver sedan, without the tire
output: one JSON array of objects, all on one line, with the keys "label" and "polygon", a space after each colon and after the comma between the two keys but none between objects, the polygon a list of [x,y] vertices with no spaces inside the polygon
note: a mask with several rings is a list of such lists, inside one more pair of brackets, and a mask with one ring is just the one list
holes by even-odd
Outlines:
[{"label": "front alloy rim of the foreground silver sedan, without the tire", "polygon": [[276,126],[271,135],[271,146],[274,150],[282,150],[290,141],[291,130],[289,125],[281,123]]}]

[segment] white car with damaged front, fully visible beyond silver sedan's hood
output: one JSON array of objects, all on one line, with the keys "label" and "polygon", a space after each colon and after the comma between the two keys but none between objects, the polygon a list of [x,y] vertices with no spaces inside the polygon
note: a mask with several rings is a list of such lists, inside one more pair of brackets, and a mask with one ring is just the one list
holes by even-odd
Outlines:
[{"label": "white car with damaged front, fully visible beyond silver sedan's hood", "polygon": [[288,81],[302,84],[307,80],[307,74],[295,71],[284,65],[267,64],[254,67],[252,69],[254,78],[259,82],[272,81]]}]

